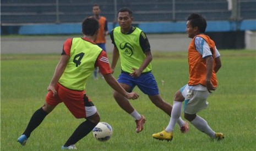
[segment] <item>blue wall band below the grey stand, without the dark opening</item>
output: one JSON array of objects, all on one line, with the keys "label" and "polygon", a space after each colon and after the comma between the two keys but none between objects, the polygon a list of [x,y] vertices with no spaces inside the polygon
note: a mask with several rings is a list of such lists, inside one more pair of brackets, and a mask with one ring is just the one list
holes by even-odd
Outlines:
[{"label": "blue wall band below the grey stand, without the dark opening", "polygon": [[[111,31],[117,24],[108,22]],[[143,22],[133,24],[145,33],[183,33],[186,22]],[[207,32],[256,31],[256,20],[208,21]],[[42,35],[42,34],[81,34],[81,24],[37,24],[1,26],[1,34]]]}]

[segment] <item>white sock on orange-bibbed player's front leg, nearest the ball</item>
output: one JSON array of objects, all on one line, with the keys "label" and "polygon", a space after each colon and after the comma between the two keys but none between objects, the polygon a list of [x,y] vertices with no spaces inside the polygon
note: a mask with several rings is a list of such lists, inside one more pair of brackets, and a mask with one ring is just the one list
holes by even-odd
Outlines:
[{"label": "white sock on orange-bibbed player's front leg, nearest the ball", "polygon": [[[172,106],[171,119],[165,131],[172,132],[178,119],[181,119],[182,102],[174,101]],[[180,121],[179,121],[180,122]],[[183,121],[184,122],[184,121]]]}]

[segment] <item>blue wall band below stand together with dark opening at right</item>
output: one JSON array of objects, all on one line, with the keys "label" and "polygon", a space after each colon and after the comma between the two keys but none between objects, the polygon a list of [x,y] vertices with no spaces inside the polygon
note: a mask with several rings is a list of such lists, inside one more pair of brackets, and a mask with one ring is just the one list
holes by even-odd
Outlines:
[{"label": "blue wall band below stand together with dark opening at right", "polygon": [[[118,26],[108,22],[108,30]],[[185,33],[186,22],[143,22],[133,24],[145,33]],[[206,34],[215,40],[220,49],[245,48],[244,32],[256,31],[256,20],[243,21],[208,21]],[[1,26],[1,34],[20,35],[56,35],[56,34],[81,34],[81,24],[37,24],[20,26]]]}]

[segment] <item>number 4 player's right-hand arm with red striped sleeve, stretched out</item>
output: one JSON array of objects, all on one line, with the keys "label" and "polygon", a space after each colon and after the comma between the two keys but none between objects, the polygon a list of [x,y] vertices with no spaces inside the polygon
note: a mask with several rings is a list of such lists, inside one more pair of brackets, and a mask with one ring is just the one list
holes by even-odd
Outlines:
[{"label": "number 4 player's right-hand arm with red striped sleeve, stretched out", "polygon": [[128,99],[137,99],[139,97],[138,94],[135,92],[127,92],[122,88],[122,86],[117,82],[117,80],[113,77],[111,74],[111,68],[110,64],[108,63],[107,59],[107,54],[105,51],[101,51],[101,54],[99,55],[97,61],[96,61],[96,66],[99,67],[101,74],[104,76],[104,79],[106,80],[107,84],[111,86],[112,89],[116,90],[119,92],[121,95]]}]

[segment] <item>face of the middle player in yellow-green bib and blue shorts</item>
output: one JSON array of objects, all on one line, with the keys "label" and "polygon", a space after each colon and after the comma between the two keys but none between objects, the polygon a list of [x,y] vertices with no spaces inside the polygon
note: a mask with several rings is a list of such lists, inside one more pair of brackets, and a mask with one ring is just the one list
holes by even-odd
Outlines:
[{"label": "face of the middle player in yellow-green bib and blue shorts", "polygon": [[133,17],[131,17],[128,11],[119,12],[117,21],[122,29],[129,29],[132,26]]}]

